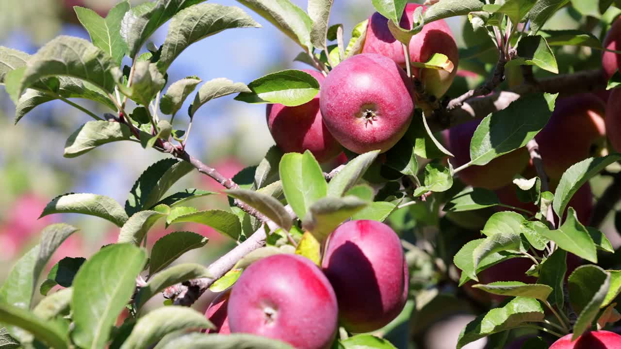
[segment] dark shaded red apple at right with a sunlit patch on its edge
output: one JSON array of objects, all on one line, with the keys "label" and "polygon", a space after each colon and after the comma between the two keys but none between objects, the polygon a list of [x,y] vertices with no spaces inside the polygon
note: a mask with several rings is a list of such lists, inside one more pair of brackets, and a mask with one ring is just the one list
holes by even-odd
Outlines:
[{"label": "dark shaded red apple at right with a sunlit patch on its edge", "polygon": [[597,151],[606,133],[605,108],[604,102],[592,93],[556,101],[550,121],[535,136],[550,178],[561,178],[569,166]]}]

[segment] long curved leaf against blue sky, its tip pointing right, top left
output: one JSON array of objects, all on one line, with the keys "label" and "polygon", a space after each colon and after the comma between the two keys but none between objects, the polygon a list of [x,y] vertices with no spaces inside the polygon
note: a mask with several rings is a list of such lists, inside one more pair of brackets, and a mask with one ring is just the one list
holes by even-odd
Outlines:
[{"label": "long curved leaf against blue sky, its tip pointing right, top left", "polygon": [[187,7],[179,11],[170,21],[157,66],[160,71],[168,70],[175,58],[189,45],[222,30],[260,27],[260,24],[239,7],[220,4],[197,4]]}]

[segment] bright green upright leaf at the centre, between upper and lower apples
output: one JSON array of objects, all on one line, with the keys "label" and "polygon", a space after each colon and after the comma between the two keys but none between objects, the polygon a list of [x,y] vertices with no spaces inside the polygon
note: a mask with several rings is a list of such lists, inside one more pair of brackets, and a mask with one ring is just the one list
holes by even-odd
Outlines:
[{"label": "bright green upright leaf at the centre, between upper and lower apples", "polygon": [[309,207],[327,194],[324,173],[308,150],[283,155],[279,173],[284,196],[297,217],[304,217]]}]

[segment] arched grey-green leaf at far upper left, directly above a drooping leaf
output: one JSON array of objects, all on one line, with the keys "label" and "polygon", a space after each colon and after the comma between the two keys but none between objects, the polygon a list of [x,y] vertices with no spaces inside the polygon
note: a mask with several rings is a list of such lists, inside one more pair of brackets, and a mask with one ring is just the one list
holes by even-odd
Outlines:
[{"label": "arched grey-green leaf at far upper left, directly above a drooping leaf", "polygon": [[58,75],[83,79],[107,93],[112,93],[116,85],[112,68],[116,68],[112,57],[94,47],[92,43],[60,35],[30,57],[17,89],[17,96],[21,96],[25,89],[39,79]]}]

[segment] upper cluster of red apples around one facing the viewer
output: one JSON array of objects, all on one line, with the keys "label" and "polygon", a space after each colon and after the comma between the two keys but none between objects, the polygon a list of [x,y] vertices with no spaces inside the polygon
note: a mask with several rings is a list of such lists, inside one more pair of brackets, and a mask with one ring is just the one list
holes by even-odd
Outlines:
[{"label": "upper cluster of red apples around one facing the viewer", "polygon": [[[407,4],[401,27],[412,29],[419,6]],[[403,51],[388,28],[388,19],[374,13],[369,17],[362,53],[342,61],[325,77],[319,71],[304,70],[319,81],[318,96],[296,107],[268,105],[266,119],[276,145],[284,152],[310,150],[321,163],[338,156],[343,147],[354,153],[389,150],[406,133],[414,112]],[[455,39],[444,20],[427,24],[414,35],[409,52],[414,62],[424,63],[434,53],[446,55],[455,66],[459,62]],[[435,97],[446,92],[456,72],[412,70],[425,91]]]}]

